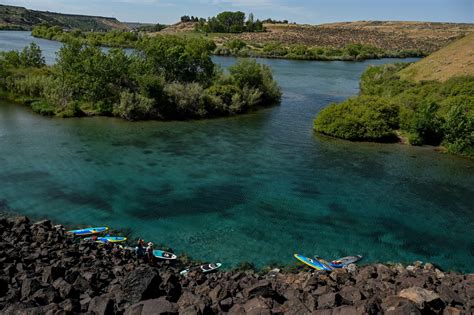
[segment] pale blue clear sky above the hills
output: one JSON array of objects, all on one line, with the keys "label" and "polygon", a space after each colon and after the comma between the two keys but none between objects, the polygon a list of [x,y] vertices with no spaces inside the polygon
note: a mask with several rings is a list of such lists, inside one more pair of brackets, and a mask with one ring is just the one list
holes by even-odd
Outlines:
[{"label": "pale blue clear sky above the hills", "polygon": [[306,24],[391,20],[474,23],[474,0],[0,0],[62,13],[113,16],[123,22],[173,24],[182,15],[254,13]]}]

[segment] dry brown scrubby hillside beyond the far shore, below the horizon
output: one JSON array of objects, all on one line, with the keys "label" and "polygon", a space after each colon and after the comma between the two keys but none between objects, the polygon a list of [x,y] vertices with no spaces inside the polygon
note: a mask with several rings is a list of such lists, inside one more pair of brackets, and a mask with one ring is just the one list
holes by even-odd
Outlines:
[{"label": "dry brown scrubby hillside beyond the far shore, below the horizon", "polygon": [[[474,32],[474,24],[361,21],[321,25],[265,24],[266,32],[242,34],[209,34],[216,43],[240,39],[258,48],[268,43],[283,46],[306,45],[342,49],[349,44],[362,44],[385,51],[422,51],[426,54],[439,50],[466,34]],[[163,33],[192,36],[192,22],[178,23]]]}]

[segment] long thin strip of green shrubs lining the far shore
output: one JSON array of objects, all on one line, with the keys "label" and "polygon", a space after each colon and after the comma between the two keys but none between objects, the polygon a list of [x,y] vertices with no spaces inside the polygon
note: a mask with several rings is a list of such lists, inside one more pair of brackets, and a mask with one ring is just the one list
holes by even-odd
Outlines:
[{"label": "long thin strip of green shrubs lining the far shore", "polygon": [[125,31],[81,32],[65,31],[60,27],[37,26],[32,36],[41,39],[67,43],[79,41],[83,44],[109,48],[139,49],[147,42],[162,37],[178,37],[184,39],[207,40],[214,45],[212,54],[215,56],[238,58],[269,58],[306,61],[364,61],[382,58],[419,58],[427,56],[423,50],[415,49],[383,49],[371,45],[354,44],[335,48],[333,46],[314,46],[306,44],[288,44],[282,42],[253,43],[234,37],[221,37],[223,34],[204,34],[199,32],[167,34],[130,33]]}]

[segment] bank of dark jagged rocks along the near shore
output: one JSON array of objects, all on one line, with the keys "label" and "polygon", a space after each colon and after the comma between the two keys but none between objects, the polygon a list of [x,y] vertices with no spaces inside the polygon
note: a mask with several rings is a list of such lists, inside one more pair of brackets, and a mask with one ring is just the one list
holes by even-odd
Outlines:
[{"label": "bank of dark jagged rocks along the near shore", "polygon": [[472,314],[474,274],[431,264],[330,273],[190,273],[78,243],[50,221],[0,218],[1,314]]}]

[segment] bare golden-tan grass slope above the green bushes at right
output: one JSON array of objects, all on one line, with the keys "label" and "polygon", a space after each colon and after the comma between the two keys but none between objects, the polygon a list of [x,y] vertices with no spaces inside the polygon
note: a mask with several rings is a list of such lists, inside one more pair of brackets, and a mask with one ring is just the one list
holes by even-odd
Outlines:
[{"label": "bare golden-tan grass slope above the green bushes at right", "polygon": [[417,82],[463,75],[474,75],[474,33],[400,71],[402,79]]}]

